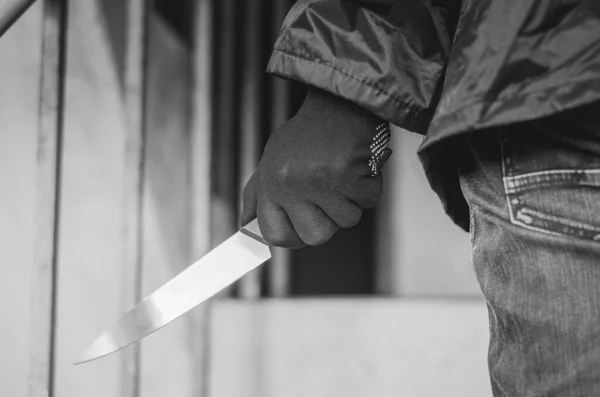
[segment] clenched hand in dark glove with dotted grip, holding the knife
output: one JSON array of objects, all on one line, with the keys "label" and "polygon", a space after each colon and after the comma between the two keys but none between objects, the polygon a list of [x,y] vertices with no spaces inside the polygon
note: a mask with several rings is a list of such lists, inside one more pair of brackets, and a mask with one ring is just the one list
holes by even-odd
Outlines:
[{"label": "clenched hand in dark glove with dotted grip, holding the knife", "polygon": [[[391,154],[388,131],[368,111],[311,88],[269,138],[244,188],[242,224],[258,218],[264,239],[286,248],[319,245],[354,226],[381,196],[377,171]],[[378,166],[370,162],[374,150]]]}]

